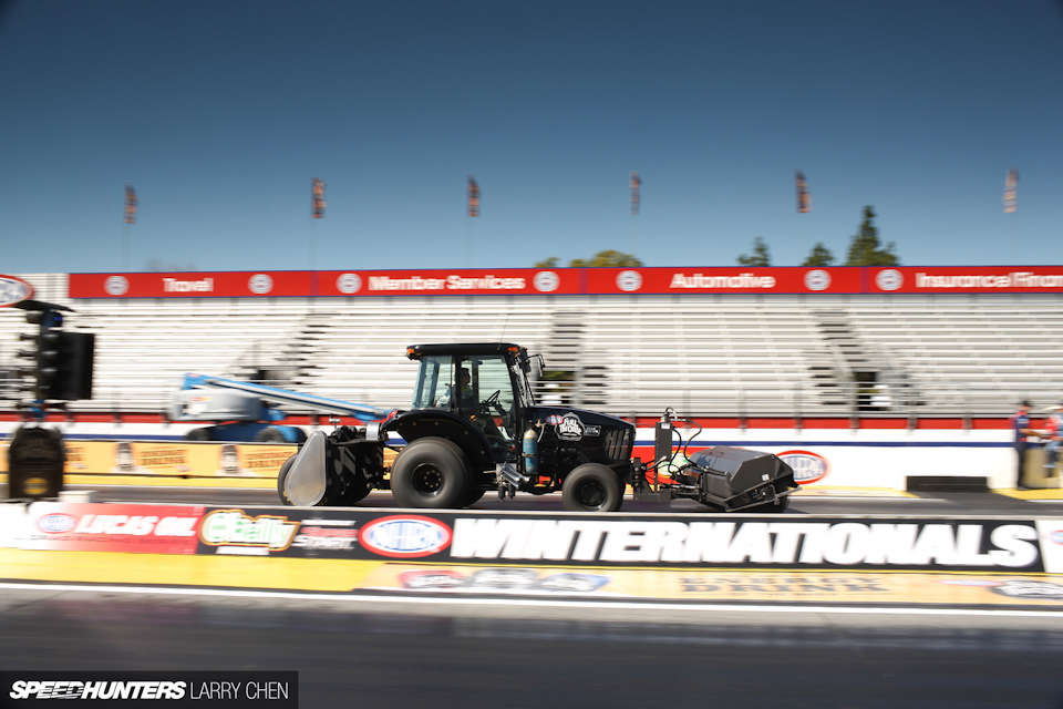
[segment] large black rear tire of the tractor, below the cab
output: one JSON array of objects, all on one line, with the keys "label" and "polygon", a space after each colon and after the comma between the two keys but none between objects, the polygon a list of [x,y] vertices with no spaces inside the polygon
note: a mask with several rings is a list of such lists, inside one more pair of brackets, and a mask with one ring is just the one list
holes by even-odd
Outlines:
[{"label": "large black rear tire of the tractor, below the cab", "polygon": [[462,450],[445,439],[417,439],[391,467],[391,494],[403,507],[455,508],[467,504],[472,475]]}]

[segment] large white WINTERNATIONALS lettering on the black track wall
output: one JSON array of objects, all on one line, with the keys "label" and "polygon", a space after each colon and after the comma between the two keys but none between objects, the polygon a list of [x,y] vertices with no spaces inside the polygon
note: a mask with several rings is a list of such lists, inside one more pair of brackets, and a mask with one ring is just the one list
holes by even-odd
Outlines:
[{"label": "large white WINTERNATIONALS lettering on the black track wall", "polygon": [[1032,523],[464,517],[451,557],[509,562],[1043,571]]}]

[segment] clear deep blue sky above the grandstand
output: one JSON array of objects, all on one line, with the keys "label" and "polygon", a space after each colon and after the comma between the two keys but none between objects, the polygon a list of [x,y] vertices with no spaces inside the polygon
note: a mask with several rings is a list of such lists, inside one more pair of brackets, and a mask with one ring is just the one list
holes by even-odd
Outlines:
[{"label": "clear deep blue sky above the grandstand", "polygon": [[0,273],[793,266],[865,205],[906,266],[1063,264],[1060,0],[0,4]]}]

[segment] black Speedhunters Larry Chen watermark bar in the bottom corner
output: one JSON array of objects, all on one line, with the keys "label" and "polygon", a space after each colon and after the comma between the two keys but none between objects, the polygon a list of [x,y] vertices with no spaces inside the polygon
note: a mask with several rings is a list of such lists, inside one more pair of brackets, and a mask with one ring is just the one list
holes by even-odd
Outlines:
[{"label": "black Speedhunters Larry Chen watermark bar in the bottom corner", "polygon": [[166,707],[297,709],[299,674],[217,672],[0,672],[0,706],[162,703]]}]

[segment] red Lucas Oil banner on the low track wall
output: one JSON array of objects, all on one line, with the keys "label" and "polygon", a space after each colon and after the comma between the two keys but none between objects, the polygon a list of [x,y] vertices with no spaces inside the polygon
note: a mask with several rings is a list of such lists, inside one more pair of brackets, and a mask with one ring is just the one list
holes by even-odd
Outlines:
[{"label": "red Lucas Oil banner on the low track wall", "polygon": [[24,549],[195,554],[202,506],[37,502],[30,505]]}]

